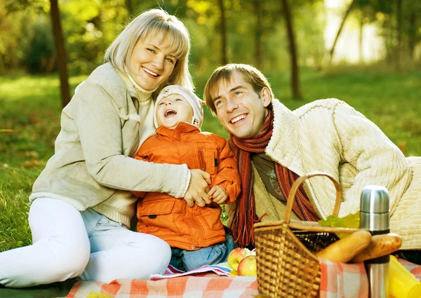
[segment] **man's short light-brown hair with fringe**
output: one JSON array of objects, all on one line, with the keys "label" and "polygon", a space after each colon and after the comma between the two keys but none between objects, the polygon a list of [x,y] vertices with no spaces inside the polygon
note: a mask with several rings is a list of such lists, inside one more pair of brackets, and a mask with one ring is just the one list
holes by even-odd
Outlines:
[{"label": "man's short light-brown hair with fringe", "polygon": [[[203,99],[206,101],[206,105],[214,115],[216,114],[216,108],[213,99],[218,93],[220,82],[230,83],[233,74],[236,72],[241,74],[244,81],[253,87],[255,93],[260,95],[262,88],[266,87],[270,91],[271,98],[274,98],[274,92],[272,91],[272,88],[270,88],[269,81],[267,81],[265,75],[262,74],[260,70],[251,65],[230,63],[218,67],[213,71],[213,74],[208,79],[205,90],[203,91]],[[272,109],[272,103],[269,104],[268,108]]]}]

